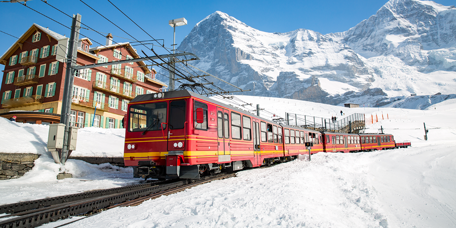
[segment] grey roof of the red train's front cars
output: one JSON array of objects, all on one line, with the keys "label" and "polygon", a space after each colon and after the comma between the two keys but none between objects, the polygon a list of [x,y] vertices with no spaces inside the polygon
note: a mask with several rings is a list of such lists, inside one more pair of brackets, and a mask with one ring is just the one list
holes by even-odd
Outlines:
[{"label": "grey roof of the red train's front cars", "polygon": [[[208,101],[208,102],[211,102],[211,103],[214,103],[214,104],[217,104],[219,106],[222,106],[222,107],[226,107],[226,108],[229,108],[229,109],[232,109],[236,112],[240,112],[240,113],[243,113],[244,115],[247,115],[247,116],[250,116],[250,117],[254,117],[254,118],[257,118],[259,120],[262,120],[262,121],[265,121],[265,122],[268,122],[268,123],[272,123],[272,124],[276,124],[276,125],[279,125],[279,126],[282,126],[282,127],[286,127],[286,128],[291,128],[291,129],[296,129],[296,130],[306,130],[306,131],[311,131],[311,132],[315,132],[315,133],[320,133],[319,131],[316,131],[316,130],[311,130],[311,129],[307,129],[307,128],[300,128],[300,127],[295,127],[295,126],[288,126],[288,125],[281,125],[279,123],[276,123],[274,121],[271,121],[271,120],[268,120],[268,119],[264,119],[262,117],[258,117],[250,112],[247,112],[247,111],[244,111],[242,109],[239,109],[237,107],[234,107],[234,106],[231,106],[229,104],[225,104],[225,103],[222,103],[220,101],[216,101],[214,99],[211,99],[209,97],[205,97],[203,95],[200,95],[200,94],[197,94],[197,93],[194,93],[192,91],[188,91],[188,90],[173,90],[173,91],[167,91],[167,92],[162,92],[164,94],[163,98],[162,99],[172,99],[172,98],[179,98],[179,97],[196,97],[198,99],[201,99],[201,100],[205,100],[205,101]],[[143,102],[143,101],[153,101],[153,100],[157,100],[155,99],[154,97],[154,94],[151,93],[151,94],[143,94],[143,95],[138,95],[136,96],[135,98],[133,98],[133,100],[130,101],[130,104],[133,104],[135,102]]]}]

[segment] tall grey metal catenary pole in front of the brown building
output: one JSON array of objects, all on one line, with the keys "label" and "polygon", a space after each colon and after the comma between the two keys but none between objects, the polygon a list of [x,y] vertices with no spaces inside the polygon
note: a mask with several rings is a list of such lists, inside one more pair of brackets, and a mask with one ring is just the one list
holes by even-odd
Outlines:
[{"label": "tall grey metal catenary pole in front of the brown building", "polygon": [[71,35],[68,44],[68,54],[66,57],[66,73],[65,84],[63,87],[62,111],[60,112],[60,123],[65,125],[65,133],[63,135],[63,148],[60,163],[65,165],[66,157],[68,155],[68,128],[69,128],[69,115],[71,111],[71,89],[73,88],[74,69],[76,66],[76,57],[78,54],[78,40],[79,30],[81,29],[81,15],[73,15],[73,22],[71,23]]}]

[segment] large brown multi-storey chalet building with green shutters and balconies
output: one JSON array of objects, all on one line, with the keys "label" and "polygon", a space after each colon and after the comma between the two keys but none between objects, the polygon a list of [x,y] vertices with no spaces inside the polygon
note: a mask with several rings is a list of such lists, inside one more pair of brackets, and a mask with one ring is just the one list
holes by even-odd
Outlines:
[{"label": "large brown multi-storey chalet building with green shutters and balconies", "polygon": [[[17,122],[60,122],[66,63],[57,61],[58,41],[65,36],[33,24],[0,58],[3,70],[0,117]],[[83,38],[78,44],[78,65],[138,58],[129,43],[92,47]],[[70,123],[73,126],[122,128],[127,104],[135,96],[159,92],[167,85],[155,79],[156,71],[144,62],[131,62],[75,72]]]}]

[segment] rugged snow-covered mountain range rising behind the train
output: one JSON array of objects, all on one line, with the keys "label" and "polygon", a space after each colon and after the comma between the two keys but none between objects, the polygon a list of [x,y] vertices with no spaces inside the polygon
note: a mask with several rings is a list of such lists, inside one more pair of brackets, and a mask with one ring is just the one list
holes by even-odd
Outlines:
[{"label": "rugged snow-covered mountain range rising behind the train", "polygon": [[217,11],[178,50],[198,55],[196,67],[250,89],[246,95],[388,104],[410,93],[456,93],[456,8],[431,1],[391,0],[348,31],[326,35],[262,32]]}]

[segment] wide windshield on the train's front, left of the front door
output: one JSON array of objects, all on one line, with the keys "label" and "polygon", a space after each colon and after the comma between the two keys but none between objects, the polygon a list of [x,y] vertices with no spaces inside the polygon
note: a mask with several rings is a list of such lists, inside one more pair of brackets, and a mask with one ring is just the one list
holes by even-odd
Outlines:
[{"label": "wide windshield on the train's front, left of the front door", "polygon": [[167,107],[166,102],[131,105],[129,131],[161,130],[162,123],[166,123]]}]

